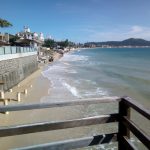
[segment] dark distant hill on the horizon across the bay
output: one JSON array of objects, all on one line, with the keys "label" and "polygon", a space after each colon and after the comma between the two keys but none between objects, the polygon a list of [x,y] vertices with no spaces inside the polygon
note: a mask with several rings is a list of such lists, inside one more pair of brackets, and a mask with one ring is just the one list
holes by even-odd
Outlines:
[{"label": "dark distant hill on the horizon across the bay", "polygon": [[150,41],[144,39],[130,38],[124,41],[107,41],[107,42],[88,42],[84,44],[85,46],[95,45],[96,47],[101,47],[104,45],[108,46],[150,46]]}]

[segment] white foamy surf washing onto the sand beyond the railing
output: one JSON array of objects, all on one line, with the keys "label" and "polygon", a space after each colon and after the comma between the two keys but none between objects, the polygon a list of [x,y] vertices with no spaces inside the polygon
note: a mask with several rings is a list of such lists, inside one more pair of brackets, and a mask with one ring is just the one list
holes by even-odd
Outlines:
[{"label": "white foamy surf washing onto the sand beyond the railing", "polygon": [[[59,95],[62,95],[62,98],[63,96],[74,96],[77,98],[108,96],[107,91],[98,87],[95,81],[86,78],[84,74],[78,71],[78,68],[73,68],[73,65],[69,63],[69,61],[76,61],[80,64],[79,61],[87,60],[88,57],[84,55],[67,54],[60,61],[50,65],[47,70],[43,71],[42,75],[51,82],[51,88],[48,91],[49,95],[52,94],[55,97],[55,94],[59,91]],[[69,75],[75,73],[79,73],[79,76]],[[82,79],[82,76],[85,79]]]}]

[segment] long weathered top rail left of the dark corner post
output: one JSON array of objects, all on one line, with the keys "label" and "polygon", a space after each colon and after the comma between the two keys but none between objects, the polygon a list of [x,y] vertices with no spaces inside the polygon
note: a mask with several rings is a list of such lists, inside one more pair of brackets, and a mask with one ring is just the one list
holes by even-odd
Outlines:
[{"label": "long weathered top rail left of the dark corner post", "polygon": [[78,100],[72,100],[72,101],[71,100],[59,101],[59,102],[57,101],[53,103],[8,105],[8,106],[0,106],[0,112],[75,106],[75,105],[85,105],[85,104],[90,105],[90,104],[99,104],[99,103],[110,103],[110,102],[118,102],[119,100],[120,100],[119,97],[105,97],[105,98],[78,99]]}]

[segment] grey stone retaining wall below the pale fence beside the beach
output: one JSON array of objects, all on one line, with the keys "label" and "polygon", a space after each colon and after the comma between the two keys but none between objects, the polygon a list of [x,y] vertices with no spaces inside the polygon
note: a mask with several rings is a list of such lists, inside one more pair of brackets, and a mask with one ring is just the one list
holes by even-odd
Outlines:
[{"label": "grey stone retaining wall below the pale fence beside the beach", "polygon": [[[0,60],[0,81],[6,91],[37,70],[37,55]],[[2,88],[2,87],[1,87]]]}]

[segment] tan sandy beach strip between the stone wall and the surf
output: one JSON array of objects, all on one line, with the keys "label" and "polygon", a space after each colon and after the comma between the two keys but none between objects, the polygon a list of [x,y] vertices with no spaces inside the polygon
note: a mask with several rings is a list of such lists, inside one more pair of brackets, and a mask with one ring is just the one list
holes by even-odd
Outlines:
[{"label": "tan sandy beach strip between the stone wall and the surf", "polygon": [[[40,100],[43,96],[47,96],[48,95],[48,91],[45,91],[43,89],[49,89],[51,88],[51,82],[42,75],[42,72],[51,64],[55,63],[56,61],[58,61],[60,58],[63,57],[63,55],[67,54],[67,53],[72,53],[76,50],[79,50],[82,48],[76,48],[74,50],[71,50],[69,52],[66,52],[64,54],[60,54],[58,52],[54,52],[53,55],[53,61],[52,62],[41,62],[38,64],[38,69],[33,72],[31,75],[29,75],[27,78],[25,78],[24,80],[22,80],[20,83],[18,83],[18,85],[12,87],[12,92],[10,91],[6,91],[5,92],[5,98],[6,99],[13,99],[10,100],[9,104],[18,104],[18,102],[16,102],[17,100],[17,92],[24,92],[24,89],[28,90],[28,94],[21,94],[21,101],[19,103],[28,103],[28,102],[35,102],[38,100]],[[83,48],[84,49],[84,48]],[[39,85],[41,84],[41,85]],[[30,87],[32,86],[32,88]],[[41,86],[41,89],[40,89]],[[42,92],[44,91],[44,92]],[[36,93],[34,95],[34,93]],[[30,99],[30,100],[29,100]],[[0,105],[3,105],[2,102],[0,102]]]}]

